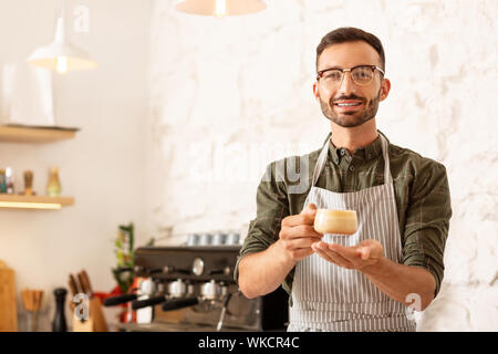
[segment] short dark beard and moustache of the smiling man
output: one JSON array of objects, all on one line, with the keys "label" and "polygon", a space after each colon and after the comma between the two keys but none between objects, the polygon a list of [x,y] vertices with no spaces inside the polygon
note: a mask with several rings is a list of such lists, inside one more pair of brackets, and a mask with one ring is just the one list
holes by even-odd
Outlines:
[{"label": "short dark beard and moustache of the smiling man", "polygon": [[[366,103],[365,103],[365,101],[366,101],[365,98],[359,97],[356,95],[341,96],[339,98],[331,98],[329,104],[323,102],[322,98],[320,97],[320,106],[322,108],[323,115],[326,118],[329,118],[330,121],[334,122],[335,124],[338,124],[342,127],[351,128],[354,126],[362,125],[363,123],[369,122],[370,119],[375,117],[375,115],[377,114],[377,110],[378,110],[378,102],[381,101],[381,91],[382,90],[378,91],[378,95],[374,100],[367,101]],[[336,112],[334,112],[333,107],[334,107],[334,101],[341,101],[341,100],[362,101],[365,107],[363,108],[363,111],[345,112],[345,113],[341,113],[339,115]]]}]

